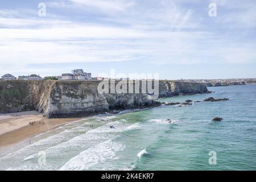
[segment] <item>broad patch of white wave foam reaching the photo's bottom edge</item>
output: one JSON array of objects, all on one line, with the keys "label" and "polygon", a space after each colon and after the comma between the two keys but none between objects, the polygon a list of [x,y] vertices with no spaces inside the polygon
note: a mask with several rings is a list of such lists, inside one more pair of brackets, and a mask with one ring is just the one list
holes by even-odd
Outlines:
[{"label": "broad patch of white wave foam reaching the photo's bottom edge", "polygon": [[116,152],[123,149],[122,144],[108,140],[81,152],[65,163],[60,170],[88,170],[96,164],[106,162],[106,160],[118,159]]}]

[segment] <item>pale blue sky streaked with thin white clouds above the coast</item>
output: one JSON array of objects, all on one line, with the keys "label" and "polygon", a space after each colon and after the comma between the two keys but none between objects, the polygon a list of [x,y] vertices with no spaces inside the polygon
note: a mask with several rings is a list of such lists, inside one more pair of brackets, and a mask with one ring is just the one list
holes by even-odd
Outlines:
[{"label": "pale blue sky streaked with thin white clouds above the coast", "polygon": [[255,32],[255,0],[0,0],[0,75],[256,78]]}]

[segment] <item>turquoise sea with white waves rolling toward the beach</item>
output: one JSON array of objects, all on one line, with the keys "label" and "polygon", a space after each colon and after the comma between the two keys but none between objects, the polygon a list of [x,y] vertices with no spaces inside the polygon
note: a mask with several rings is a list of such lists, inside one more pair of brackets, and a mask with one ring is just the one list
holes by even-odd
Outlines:
[{"label": "turquoise sea with white waves rolling toward the beach", "polygon": [[[19,144],[19,150],[1,156],[0,169],[255,170],[256,85],[208,89],[215,93],[160,101],[230,100],[81,119],[31,138],[32,144]],[[213,122],[214,117],[224,121]],[[217,164],[209,164],[210,151],[216,152]]]}]

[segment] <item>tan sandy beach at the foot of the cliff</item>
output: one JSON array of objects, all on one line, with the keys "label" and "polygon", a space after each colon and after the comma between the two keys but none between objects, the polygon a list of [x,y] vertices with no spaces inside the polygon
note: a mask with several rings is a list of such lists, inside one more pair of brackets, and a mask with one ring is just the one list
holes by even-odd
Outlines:
[{"label": "tan sandy beach at the foot of the cliff", "polygon": [[[0,114],[0,149],[11,147],[34,135],[54,129],[55,126],[77,121],[80,118],[47,119],[37,111]],[[34,125],[29,125],[30,122]],[[41,124],[39,124],[39,122]],[[44,123],[44,125],[43,125]],[[0,150],[0,151],[1,151]]]}]

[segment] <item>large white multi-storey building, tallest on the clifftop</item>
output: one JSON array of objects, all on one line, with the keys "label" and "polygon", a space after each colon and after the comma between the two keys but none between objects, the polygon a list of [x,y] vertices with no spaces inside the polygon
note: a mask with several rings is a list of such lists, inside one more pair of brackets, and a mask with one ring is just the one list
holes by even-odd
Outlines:
[{"label": "large white multi-storey building, tallest on the clifftop", "polygon": [[72,73],[63,73],[61,80],[90,80],[92,79],[92,73],[86,73],[82,69],[74,69]]}]

